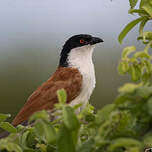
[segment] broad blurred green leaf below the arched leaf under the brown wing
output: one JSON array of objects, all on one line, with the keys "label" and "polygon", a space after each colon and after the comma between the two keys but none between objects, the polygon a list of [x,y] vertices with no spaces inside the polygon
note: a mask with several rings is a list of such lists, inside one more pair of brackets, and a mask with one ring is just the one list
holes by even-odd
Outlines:
[{"label": "broad blurred green leaf below the arched leaf under the brown wing", "polygon": [[43,139],[46,139],[46,143],[54,143],[56,141],[56,131],[54,127],[47,121],[37,120],[35,124],[36,135]]}]

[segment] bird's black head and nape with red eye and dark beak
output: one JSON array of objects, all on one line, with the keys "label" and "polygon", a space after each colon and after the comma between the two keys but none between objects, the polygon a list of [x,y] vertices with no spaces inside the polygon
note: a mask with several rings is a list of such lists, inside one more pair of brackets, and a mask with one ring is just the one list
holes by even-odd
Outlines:
[{"label": "bird's black head and nape with red eye and dark beak", "polygon": [[63,49],[60,54],[61,57],[60,57],[59,66],[62,66],[62,67],[68,66],[67,57],[68,57],[69,52],[72,49],[77,48],[77,47],[82,47],[85,45],[95,45],[101,42],[103,42],[102,39],[98,37],[93,37],[88,34],[79,34],[79,35],[72,36],[63,45]]}]

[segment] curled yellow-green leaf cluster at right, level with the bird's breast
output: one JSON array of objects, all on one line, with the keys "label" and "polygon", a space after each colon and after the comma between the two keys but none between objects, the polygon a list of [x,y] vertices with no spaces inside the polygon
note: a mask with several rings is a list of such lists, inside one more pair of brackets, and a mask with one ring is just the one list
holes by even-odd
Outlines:
[{"label": "curled yellow-green leaf cluster at right, level with the bird's breast", "polygon": [[124,48],[118,71],[121,75],[131,75],[135,82],[150,84],[152,78],[152,56],[145,48],[144,51],[136,51],[135,46]]}]

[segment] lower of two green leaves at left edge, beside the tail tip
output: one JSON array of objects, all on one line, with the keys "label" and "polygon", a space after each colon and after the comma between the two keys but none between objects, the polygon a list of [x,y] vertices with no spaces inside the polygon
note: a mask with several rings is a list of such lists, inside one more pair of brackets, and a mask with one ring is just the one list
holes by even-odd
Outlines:
[{"label": "lower of two green leaves at left edge, beside the tail tip", "polygon": [[17,129],[8,122],[1,122],[0,128],[8,131],[9,133],[17,133]]}]

